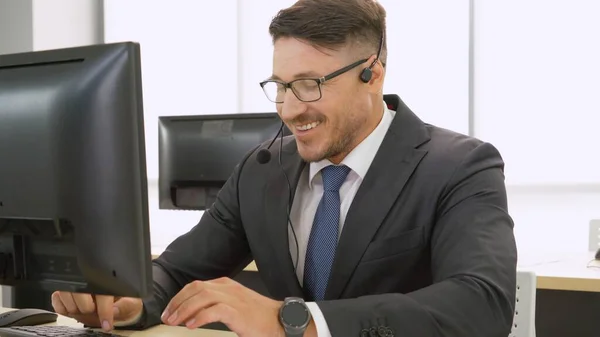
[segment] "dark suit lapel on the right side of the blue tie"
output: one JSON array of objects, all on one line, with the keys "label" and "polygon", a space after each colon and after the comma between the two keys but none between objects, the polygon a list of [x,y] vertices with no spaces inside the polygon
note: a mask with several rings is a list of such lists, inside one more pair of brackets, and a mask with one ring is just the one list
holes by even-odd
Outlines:
[{"label": "dark suit lapel on the right side of the blue tie", "polygon": [[398,195],[427,151],[424,123],[400,101],[386,96],[396,115],[352,201],[338,242],[325,299],[341,296],[350,276]]}]

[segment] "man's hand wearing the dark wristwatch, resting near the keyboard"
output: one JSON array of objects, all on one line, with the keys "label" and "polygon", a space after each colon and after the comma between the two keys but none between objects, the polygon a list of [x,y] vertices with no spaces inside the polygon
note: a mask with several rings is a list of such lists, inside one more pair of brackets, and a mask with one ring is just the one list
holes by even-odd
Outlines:
[{"label": "man's hand wearing the dark wristwatch, resting near the keyboard", "polygon": [[240,337],[283,337],[281,305],[229,278],[194,281],[173,297],[162,321],[190,329],[221,322]]}]

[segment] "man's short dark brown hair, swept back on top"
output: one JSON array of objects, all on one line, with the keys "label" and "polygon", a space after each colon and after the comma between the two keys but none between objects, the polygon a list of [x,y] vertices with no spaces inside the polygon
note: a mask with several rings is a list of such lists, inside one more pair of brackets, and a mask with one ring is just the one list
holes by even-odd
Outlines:
[{"label": "man's short dark brown hair, swept back on top", "polygon": [[[280,10],[271,21],[269,33],[275,43],[292,37],[315,47],[336,50],[350,43],[368,48],[369,57],[377,53],[386,29],[385,9],[375,0],[298,0]],[[387,58],[386,39],[380,60]]]}]

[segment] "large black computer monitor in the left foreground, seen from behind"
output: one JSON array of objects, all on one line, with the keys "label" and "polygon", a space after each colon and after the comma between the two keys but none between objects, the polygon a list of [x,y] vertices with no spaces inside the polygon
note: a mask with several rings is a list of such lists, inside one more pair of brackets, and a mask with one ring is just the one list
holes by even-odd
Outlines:
[{"label": "large black computer monitor in the left foreground, seen from behind", "polygon": [[0,284],[152,291],[140,46],[0,55]]}]

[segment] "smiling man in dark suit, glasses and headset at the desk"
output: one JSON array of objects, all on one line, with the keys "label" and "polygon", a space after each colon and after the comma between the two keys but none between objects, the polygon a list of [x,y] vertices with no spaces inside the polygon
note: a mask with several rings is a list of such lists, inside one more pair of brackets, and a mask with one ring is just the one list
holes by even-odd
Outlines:
[{"label": "smiling man in dark suit, glasses and headset at the desk", "polygon": [[[151,298],[54,293],[55,310],[107,330],[223,322],[240,336],[508,336],[516,247],[503,161],[382,94],[384,32],[372,0],[280,11],[261,86],[294,136],[240,162],[200,223],[154,261]],[[272,298],[229,279],[253,259]]]}]

